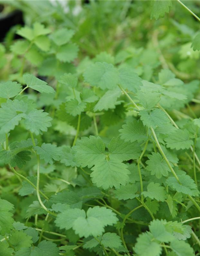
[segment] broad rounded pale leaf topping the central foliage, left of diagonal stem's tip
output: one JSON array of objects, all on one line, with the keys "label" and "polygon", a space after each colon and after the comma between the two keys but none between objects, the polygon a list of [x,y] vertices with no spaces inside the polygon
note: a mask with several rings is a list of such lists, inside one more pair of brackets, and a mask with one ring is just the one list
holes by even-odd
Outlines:
[{"label": "broad rounded pale leaf topping the central foliage, left of diagonal stem's tip", "polygon": [[118,84],[118,73],[112,64],[96,62],[88,66],[84,72],[84,79],[91,86],[100,87],[102,90],[113,89]]}]

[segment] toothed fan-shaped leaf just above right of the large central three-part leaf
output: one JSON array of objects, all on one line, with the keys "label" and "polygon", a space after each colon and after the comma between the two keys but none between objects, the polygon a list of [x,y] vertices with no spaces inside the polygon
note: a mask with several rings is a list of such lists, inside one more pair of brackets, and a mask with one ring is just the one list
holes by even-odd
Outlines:
[{"label": "toothed fan-shaped leaf just above right of the large central three-part leaf", "polygon": [[127,122],[122,125],[122,129],[119,130],[122,140],[130,142],[146,141],[146,129],[140,120],[134,119],[132,122]]}]

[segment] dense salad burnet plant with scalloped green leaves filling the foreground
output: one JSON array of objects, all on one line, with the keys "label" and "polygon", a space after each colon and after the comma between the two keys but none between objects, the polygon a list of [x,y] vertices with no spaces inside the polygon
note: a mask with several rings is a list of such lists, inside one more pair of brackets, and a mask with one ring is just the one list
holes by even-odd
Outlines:
[{"label": "dense salad burnet plant with scalloped green leaves filling the foreground", "polygon": [[[171,1],[155,2],[158,18]],[[148,82],[105,52],[62,74],[78,51],[62,32],[21,29],[24,88],[0,84],[0,255],[199,255],[199,81]]]}]

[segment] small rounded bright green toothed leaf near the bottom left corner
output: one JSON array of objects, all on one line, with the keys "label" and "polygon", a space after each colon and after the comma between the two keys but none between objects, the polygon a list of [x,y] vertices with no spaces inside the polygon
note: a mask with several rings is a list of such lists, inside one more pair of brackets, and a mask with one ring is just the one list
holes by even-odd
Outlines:
[{"label": "small rounded bright green toothed leaf near the bottom left corner", "polygon": [[15,250],[18,251],[24,247],[31,247],[32,237],[24,233],[23,230],[14,230],[9,236],[9,242],[14,246]]}]

